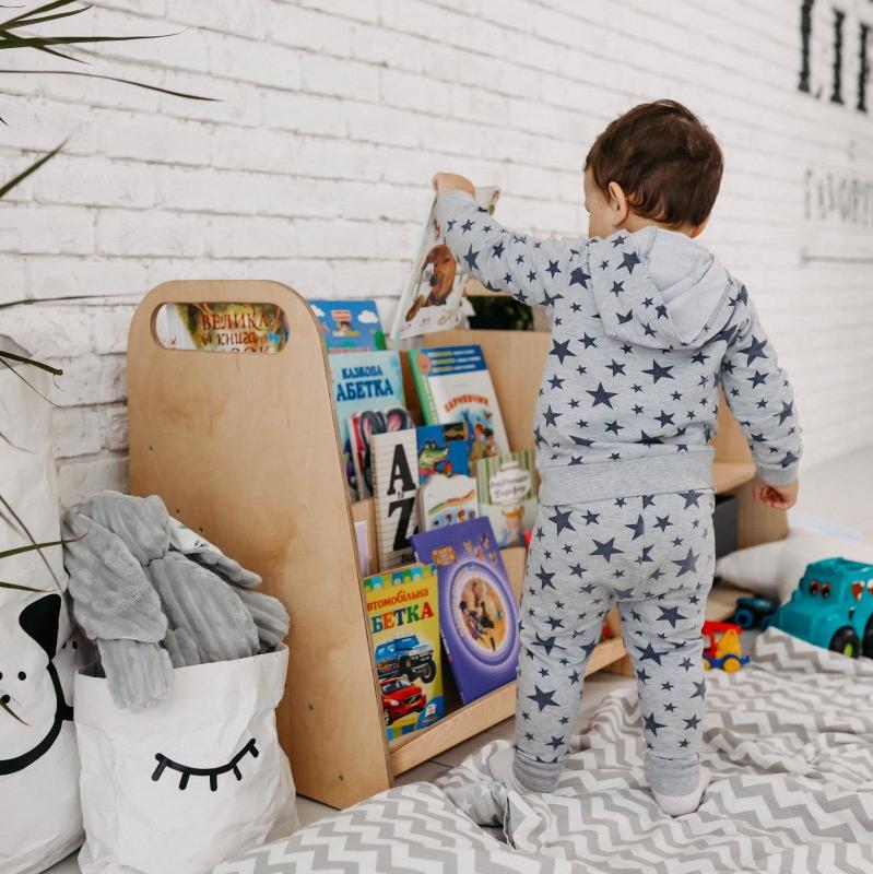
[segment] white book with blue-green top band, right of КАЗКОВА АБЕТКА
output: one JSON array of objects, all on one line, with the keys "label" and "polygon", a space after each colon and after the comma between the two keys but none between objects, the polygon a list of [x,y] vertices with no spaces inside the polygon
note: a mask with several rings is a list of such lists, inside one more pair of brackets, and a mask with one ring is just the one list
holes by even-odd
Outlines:
[{"label": "white book with blue-green top band, right of \u041a\u0410\u0417\u041a\u041e\u0412\u0410 \u0410\u0411\u0415\u0422\u041a\u0410", "polygon": [[463,422],[470,434],[471,462],[509,451],[481,346],[411,349],[406,355],[427,425]]}]

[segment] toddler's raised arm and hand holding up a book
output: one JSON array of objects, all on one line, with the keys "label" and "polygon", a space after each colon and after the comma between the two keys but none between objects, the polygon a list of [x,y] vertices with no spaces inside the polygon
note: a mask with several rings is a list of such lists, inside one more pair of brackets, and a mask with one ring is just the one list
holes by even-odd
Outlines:
[{"label": "toddler's raised arm and hand holding up a book", "polygon": [[[438,173],[437,221],[446,244],[467,271],[493,292],[507,291],[522,304],[552,307],[555,279],[577,282],[589,279],[581,269],[582,240],[534,240],[507,231],[473,200],[473,184],[463,176]],[[574,248],[575,247],[575,248]],[[577,274],[574,273],[575,261]]]}]

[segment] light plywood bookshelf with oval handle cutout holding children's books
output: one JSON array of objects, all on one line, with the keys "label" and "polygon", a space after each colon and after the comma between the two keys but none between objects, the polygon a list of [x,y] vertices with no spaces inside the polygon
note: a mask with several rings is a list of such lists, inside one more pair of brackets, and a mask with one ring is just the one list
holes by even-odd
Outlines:
[{"label": "light plywood bookshelf with oval handle cutout holding children's books", "polygon": [[[161,306],[203,302],[280,306],[291,329],[286,346],[272,355],[162,346],[154,328]],[[533,447],[547,333],[447,331],[424,342],[479,343],[510,446]],[[170,513],[258,571],[263,590],[291,614],[286,694],[276,721],[300,794],[347,806],[511,716],[515,684],[461,707],[446,665],[446,717],[386,740],[353,527],[368,519],[373,536],[373,508],[347,499],[327,355],[303,297],[266,281],[165,283],[133,316],[128,380],[131,493],[160,495]],[[406,397],[415,397],[411,381]],[[717,491],[739,500],[740,545],[784,536],[784,513],[752,504],[754,465],[724,404],[713,446]],[[524,551],[503,555],[518,594]],[[710,618],[729,615],[736,594],[713,590]],[[616,637],[598,646],[587,673],[621,669],[625,660],[614,613],[609,622]]]}]

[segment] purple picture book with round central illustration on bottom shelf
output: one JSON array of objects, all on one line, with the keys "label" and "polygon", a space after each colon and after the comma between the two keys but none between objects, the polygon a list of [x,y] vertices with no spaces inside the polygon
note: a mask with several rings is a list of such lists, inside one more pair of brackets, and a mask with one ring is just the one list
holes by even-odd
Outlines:
[{"label": "purple picture book with round central illustration on bottom shelf", "polygon": [[518,607],[485,517],[414,534],[439,578],[439,630],[463,704],[516,678]]}]

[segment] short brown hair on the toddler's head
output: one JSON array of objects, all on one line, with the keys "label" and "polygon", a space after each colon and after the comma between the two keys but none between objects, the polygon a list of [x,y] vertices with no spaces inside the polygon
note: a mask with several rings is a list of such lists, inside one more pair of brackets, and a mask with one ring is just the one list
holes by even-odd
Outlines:
[{"label": "short brown hair on the toddler's head", "polygon": [[724,158],[691,109],[675,101],[654,101],[606,127],[585,160],[589,168],[605,197],[610,182],[617,182],[637,215],[668,227],[696,227],[712,211]]}]

